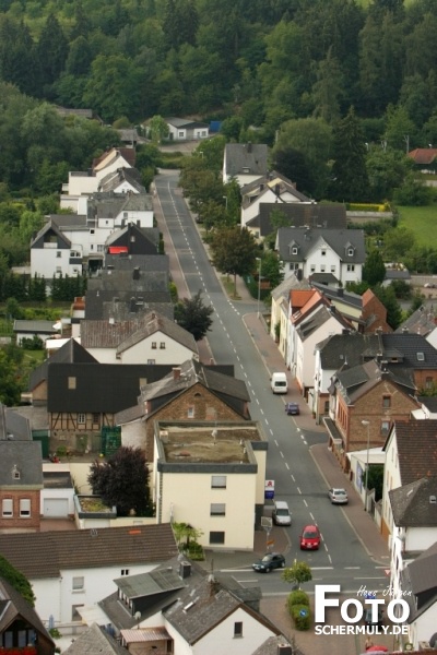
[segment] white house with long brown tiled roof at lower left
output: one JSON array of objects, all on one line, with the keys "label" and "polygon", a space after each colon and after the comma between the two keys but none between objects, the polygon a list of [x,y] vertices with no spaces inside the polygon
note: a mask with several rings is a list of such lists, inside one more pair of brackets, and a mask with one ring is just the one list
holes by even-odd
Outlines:
[{"label": "white house with long brown tiled roof at lower left", "polygon": [[57,627],[117,587],[114,580],[151,571],[177,553],[169,524],[0,534],[0,551],[28,579],[35,609]]}]

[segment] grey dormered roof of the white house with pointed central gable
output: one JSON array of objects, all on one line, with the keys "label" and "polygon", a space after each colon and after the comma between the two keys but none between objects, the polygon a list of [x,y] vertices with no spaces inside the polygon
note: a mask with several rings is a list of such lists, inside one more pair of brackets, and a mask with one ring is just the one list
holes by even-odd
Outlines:
[{"label": "grey dormered roof of the white house with pointed central gable", "polygon": [[[362,229],[329,229],[280,227],[276,234],[276,249],[280,259],[284,262],[302,262],[308,258],[310,251],[318,243],[326,242],[342,261],[351,264],[363,264],[366,261],[365,239]],[[297,247],[297,254],[293,254],[292,246]],[[353,255],[347,255],[347,249],[354,250]]]}]

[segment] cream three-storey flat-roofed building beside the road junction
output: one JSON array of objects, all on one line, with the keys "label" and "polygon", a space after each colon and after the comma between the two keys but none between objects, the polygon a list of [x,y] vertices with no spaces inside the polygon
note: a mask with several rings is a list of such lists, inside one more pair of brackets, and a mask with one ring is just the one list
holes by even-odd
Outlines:
[{"label": "cream three-storey flat-roofed building beside the road junction", "polygon": [[153,463],[157,521],[189,522],[201,531],[204,547],[252,550],[267,449],[252,421],[160,422]]}]

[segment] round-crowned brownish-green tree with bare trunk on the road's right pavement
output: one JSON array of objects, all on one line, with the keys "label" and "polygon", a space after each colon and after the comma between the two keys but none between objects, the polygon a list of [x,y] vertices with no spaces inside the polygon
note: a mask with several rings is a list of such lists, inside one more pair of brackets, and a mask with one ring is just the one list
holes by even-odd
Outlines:
[{"label": "round-crowned brownish-green tree with bare trunk on the road's right pavement", "polygon": [[259,252],[253,235],[238,226],[216,231],[210,243],[213,265],[226,275],[234,275],[234,295],[237,294],[237,275],[249,275],[255,269]]}]

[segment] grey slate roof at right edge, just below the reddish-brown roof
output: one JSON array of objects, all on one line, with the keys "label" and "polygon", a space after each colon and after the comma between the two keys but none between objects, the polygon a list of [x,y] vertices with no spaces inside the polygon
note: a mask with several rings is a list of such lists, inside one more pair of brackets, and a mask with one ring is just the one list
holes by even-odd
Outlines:
[{"label": "grey slate roof at right edge, just below the reddish-brown roof", "polygon": [[437,526],[437,475],[392,489],[389,497],[398,527]]}]

